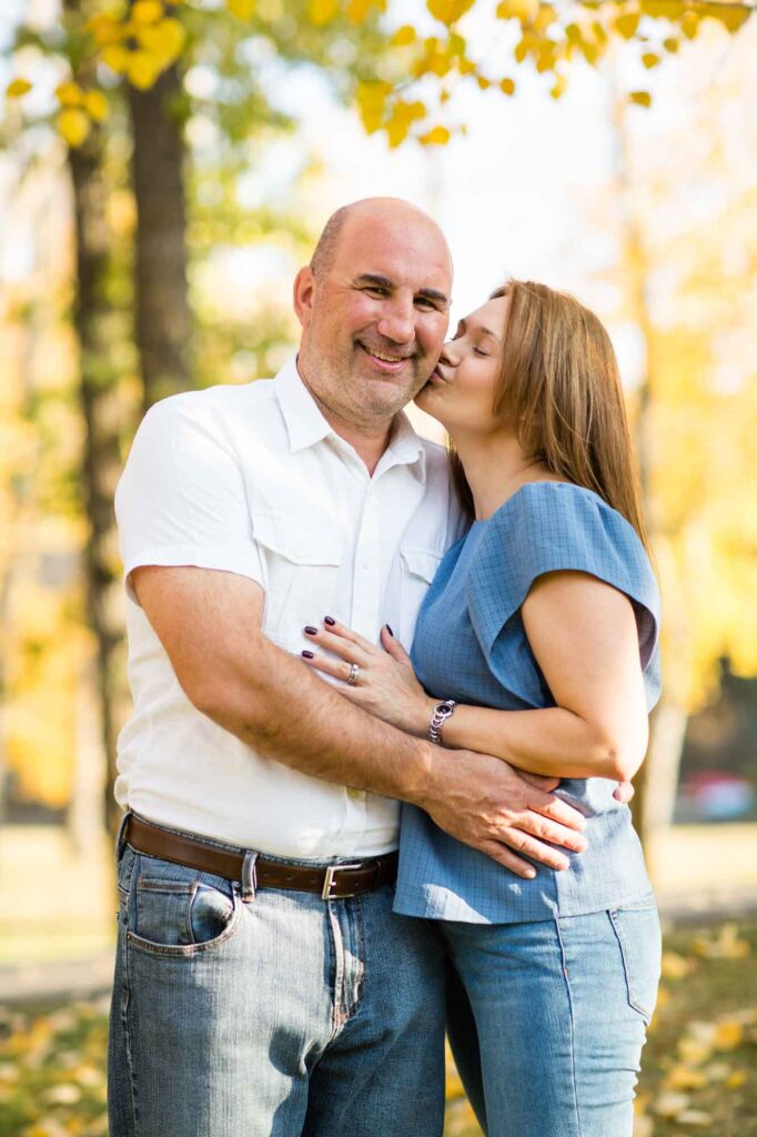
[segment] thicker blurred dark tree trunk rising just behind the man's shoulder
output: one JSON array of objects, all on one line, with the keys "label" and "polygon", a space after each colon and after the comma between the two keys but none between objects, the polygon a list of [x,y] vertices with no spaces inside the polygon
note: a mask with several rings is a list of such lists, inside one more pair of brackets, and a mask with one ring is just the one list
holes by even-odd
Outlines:
[{"label": "thicker blurred dark tree trunk rising just behind the man's shoulder", "polygon": [[149,91],[128,88],[136,200],[135,333],[144,409],[190,383],[184,139],[175,67]]}]

